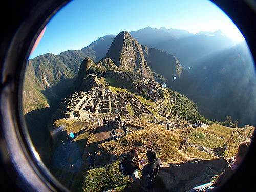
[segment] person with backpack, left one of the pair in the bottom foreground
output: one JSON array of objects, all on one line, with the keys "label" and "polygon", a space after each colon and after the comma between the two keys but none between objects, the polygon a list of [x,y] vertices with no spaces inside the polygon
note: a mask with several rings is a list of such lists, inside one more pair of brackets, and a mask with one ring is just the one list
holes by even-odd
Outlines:
[{"label": "person with backpack, left one of the pair in the bottom foreground", "polygon": [[130,183],[132,183],[133,181],[137,182],[138,185],[140,185],[140,187],[145,190],[148,191],[148,189],[146,189],[142,184],[141,184],[141,180],[140,177],[138,175],[138,170],[141,169],[140,163],[139,163],[139,151],[135,148],[132,148],[132,150],[130,151],[130,154],[126,155],[124,157],[124,167],[127,170],[127,173],[129,175],[129,180]]}]

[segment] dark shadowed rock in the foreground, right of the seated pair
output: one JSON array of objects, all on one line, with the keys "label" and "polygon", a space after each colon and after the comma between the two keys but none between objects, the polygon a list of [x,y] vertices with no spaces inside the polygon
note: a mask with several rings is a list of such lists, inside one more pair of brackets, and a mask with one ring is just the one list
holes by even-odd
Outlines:
[{"label": "dark shadowed rock in the foreground, right of the seated pair", "polygon": [[185,163],[164,165],[159,176],[168,191],[184,192],[210,182],[212,177],[221,174],[227,166],[228,162],[223,157],[211,160],[194,159]]}]

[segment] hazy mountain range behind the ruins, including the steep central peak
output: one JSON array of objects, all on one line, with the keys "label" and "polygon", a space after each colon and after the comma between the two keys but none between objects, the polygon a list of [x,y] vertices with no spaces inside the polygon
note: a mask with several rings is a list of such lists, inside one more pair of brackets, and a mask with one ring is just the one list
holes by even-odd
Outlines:
[{"label": "hazy mountain range behind the ruins, including the steep central peak", "polygon": [[[244,45],[232,47],[233,42],[221,31],[194,35],[185,30],[147,27],[130,34],[106,35],[78,51],[49,53],[29,60],[24,113],[48,106],[56,108],[88,57],[91,65],[105,70],[117,66],[150,78],[153,72],[161,74],[168,80],[167,87],[195,100],[202,115],[212,120],[231,115],[241,124],[255,123],[255,73]],[[240,83],[234,84],[238,79]]]}]

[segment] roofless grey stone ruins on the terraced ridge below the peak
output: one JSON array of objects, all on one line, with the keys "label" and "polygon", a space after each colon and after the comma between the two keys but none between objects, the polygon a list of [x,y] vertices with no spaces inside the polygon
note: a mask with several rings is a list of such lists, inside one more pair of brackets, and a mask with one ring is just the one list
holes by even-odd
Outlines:
[{"label": "roofless grey stone ruins on the terraced ridge below the peak", "polygon": [[[132,87],[135,92],[145,94],[157,104],[164,100],[160,84],[138,73],[108,72],[105,75],[115,78],[123,87]],[[99,83],[94,84],[91,91],[75,92],[70,98],[65,98],[62,104],[66,109],[64,112],[65,118],[87,119],[90,113],[96,115],[102,113],[127,115],[129,110],[132,110],[132,113],[136,115],[153,115],[134,94],[124,92],[117,92],[116,94]],[[127,106],[129,106],[129,110]]]}]

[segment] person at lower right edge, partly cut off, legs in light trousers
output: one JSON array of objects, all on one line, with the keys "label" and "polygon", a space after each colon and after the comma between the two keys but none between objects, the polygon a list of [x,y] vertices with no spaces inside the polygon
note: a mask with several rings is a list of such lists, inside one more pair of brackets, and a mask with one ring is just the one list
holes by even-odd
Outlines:
[{"label": "person at lower right edge, partly cut off, legs in light trousers", "polygon": [[238,147],[237,154],[234,157],[236,160],[234,161],[233,164],[229,165],[224,170],[224,172],[222,172],[219,175],[218,179],[215,182],[209,182],[209,183],[194,187],[193,189],[191,189],[190,192],[199,192],[199,191],[209,192],[212,189],[216,189],[219,186],[221,186],[223,183],[225,183],[230,178],[230,176],[234,173],[234,171],[237,169],[239,164],[241,163],[242,159],[244,158],[244,156],[248,150],[249,145],[250,145],[250,141],[244,141],[244,142],[240,143],[240,145]]}]

